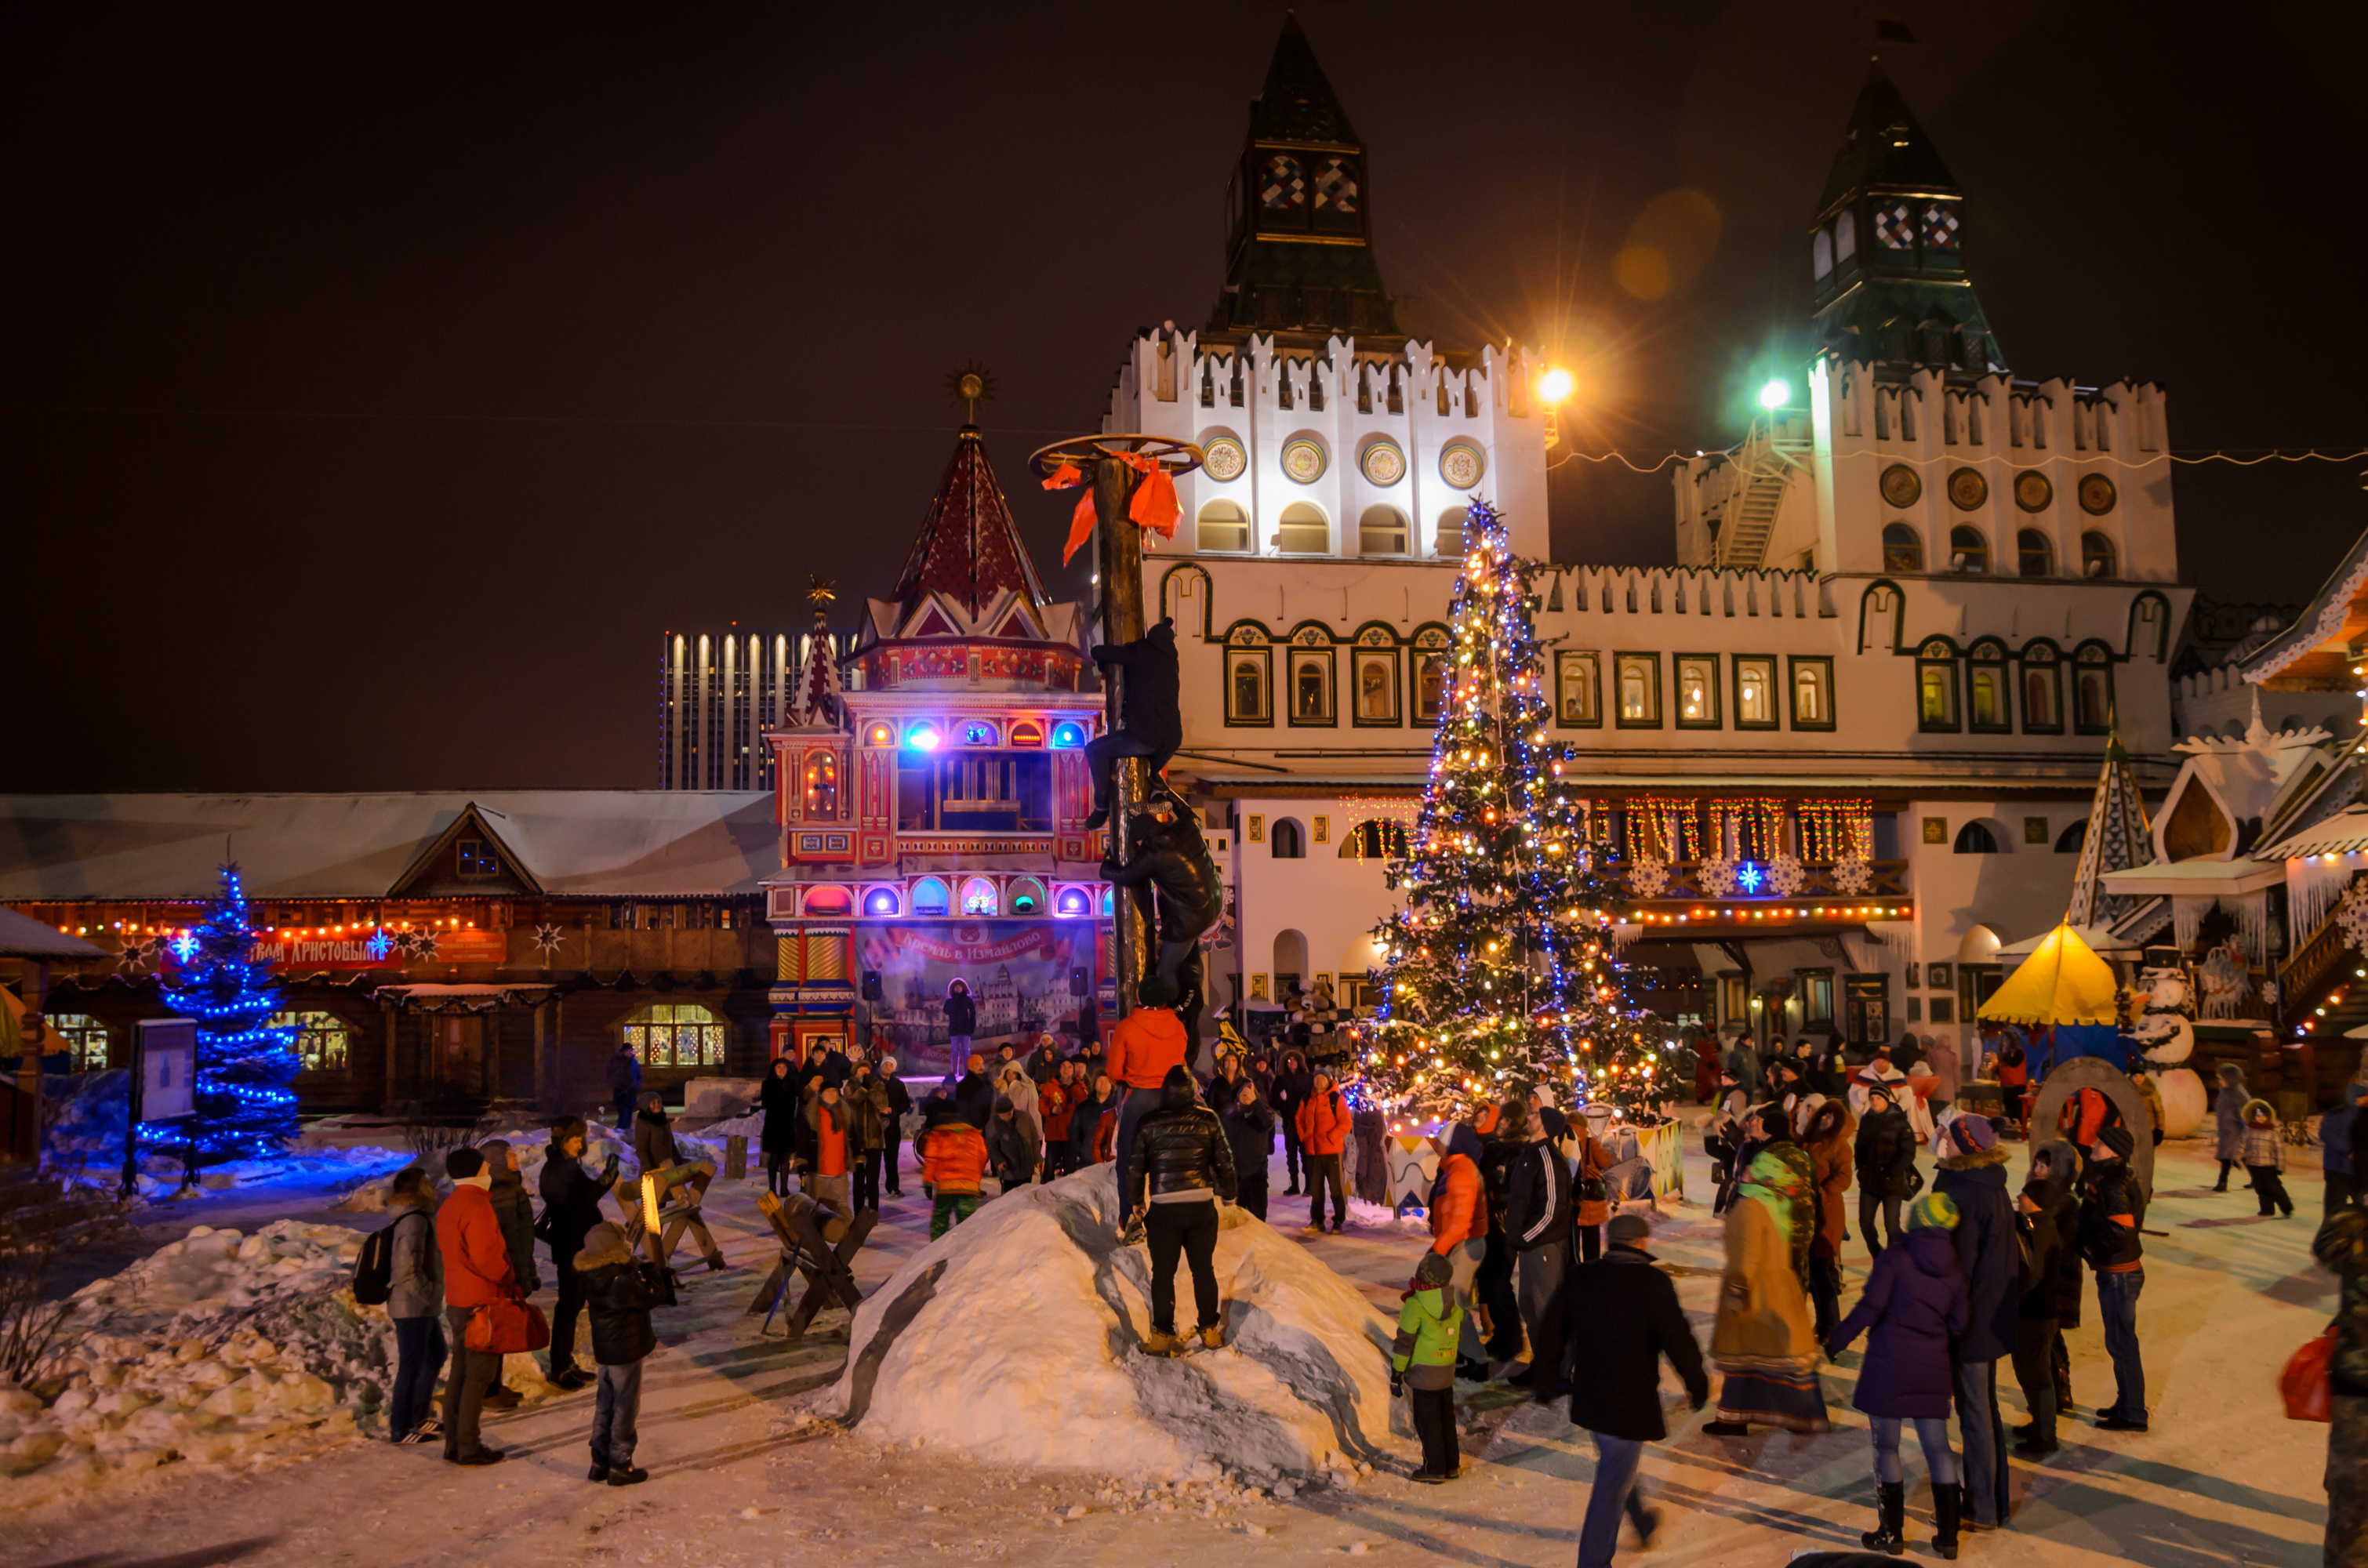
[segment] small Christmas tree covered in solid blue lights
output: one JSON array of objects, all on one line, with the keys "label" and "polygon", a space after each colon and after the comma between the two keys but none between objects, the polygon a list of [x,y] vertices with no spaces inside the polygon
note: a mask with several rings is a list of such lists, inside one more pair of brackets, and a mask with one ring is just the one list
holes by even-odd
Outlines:
[{"label": "small Christmas tree covered in solid blue lights", "polygon": [[256,962],[256,926],[239,867],[223,867],[223,891],[206,917],[170,940],[180,971],[163,1002],[197,1021],[197,1123],[166,1142],[197,1142],[199,1161],[277,1153],[296,1137],[296,1030],[272,1026],[279,983]]}]

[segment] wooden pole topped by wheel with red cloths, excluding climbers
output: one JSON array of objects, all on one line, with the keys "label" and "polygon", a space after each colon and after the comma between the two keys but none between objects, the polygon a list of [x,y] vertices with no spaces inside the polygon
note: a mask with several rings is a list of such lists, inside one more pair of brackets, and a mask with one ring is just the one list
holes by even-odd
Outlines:
[{"label": "wooden pole topped by wheel with red cloths, excluding climbers", "polygon": [[[1103,642],[1137,642],[1148,628],[1144,618],[1144,531],[1132,521],[1134,490],[1153,471],[1191,474],[1201,467],[1201,448],[1191,441],[1167,436],[1144,436],[1141,431],[1108,436],[1070,436],[1054,441],[1028,455],[1028,471],[1040,481],[1056,481],[1063,469],[1094,495],[1094,573],[1101,580],[1099,621]],[[1125,523],[1125,526],[1120,526]],[[1122,675],[1103,675],[1103,730],[1118,730],[1118,711],[1125,699]],[[1144,803],[1144,765],[1139,758],[1122,758],[1111,777],[1111,857],[1127,860],[1127,824]],[[1113,945],[1115,1011],[1125,1018],[1134,1011],[1134,983],[1144,976],[1148,933],[1144,914],[1132,898],[1111,905],[1118,924]]]}]

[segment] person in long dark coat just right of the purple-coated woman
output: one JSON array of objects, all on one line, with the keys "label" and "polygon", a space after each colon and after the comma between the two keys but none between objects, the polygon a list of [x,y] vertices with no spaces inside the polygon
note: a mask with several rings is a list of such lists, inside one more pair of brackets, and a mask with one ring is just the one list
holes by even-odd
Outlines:
[{"label": "person in long dark coat just right of the purple-coated woman", "polygon": [[1968,1317],[1956,1338],[1956,1426],[1965,1440],[1965,1525],[2006,1523],[2006,1416],[1999,1362],[2015,1350],[2022,1305],[2022,1248],[2006,1196],[2006,1149],[1987,1116],[1954,1118],[1939,1139],[1932,1191],[1956,1203],[1956,1260],[1965,1270]]}]

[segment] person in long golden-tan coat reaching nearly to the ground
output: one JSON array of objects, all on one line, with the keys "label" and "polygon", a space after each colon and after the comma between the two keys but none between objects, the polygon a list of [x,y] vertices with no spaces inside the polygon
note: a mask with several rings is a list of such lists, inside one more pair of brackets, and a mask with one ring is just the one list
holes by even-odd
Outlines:
[{"label": "person in long golden-tan coat reaching nearly to the ground", "polygon": [[1710,1360],[1722,1374],[1719,1419],[1705,1433],[1740,1438],[1750,1424],[1821,1433],[1809,1296],[1793,1267],[1793,1225],[1809,1222],[1809,1187],[1776,1151],[1752,1156],[1726,1210],[1726,1272]]}]

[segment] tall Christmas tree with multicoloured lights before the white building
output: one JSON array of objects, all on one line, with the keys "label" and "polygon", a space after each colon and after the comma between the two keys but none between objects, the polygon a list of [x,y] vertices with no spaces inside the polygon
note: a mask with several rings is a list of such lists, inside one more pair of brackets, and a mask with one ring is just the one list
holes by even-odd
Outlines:
[{"label": "tall Christmas tree with multicoloured lights before the white building", "polygon": [[1388,869],[1407,910],[1373,933],[1385,966],[1362,1092],[1423,1118],[1523,1085],[1643,1111],[1677,1092],[1679,1063],[1660,1021],[1622,1000],[1610,883],[1546,730],[1537,564],[1511,554],[1487,502],[1463,540],[1430,784],[1409,855]]}]

